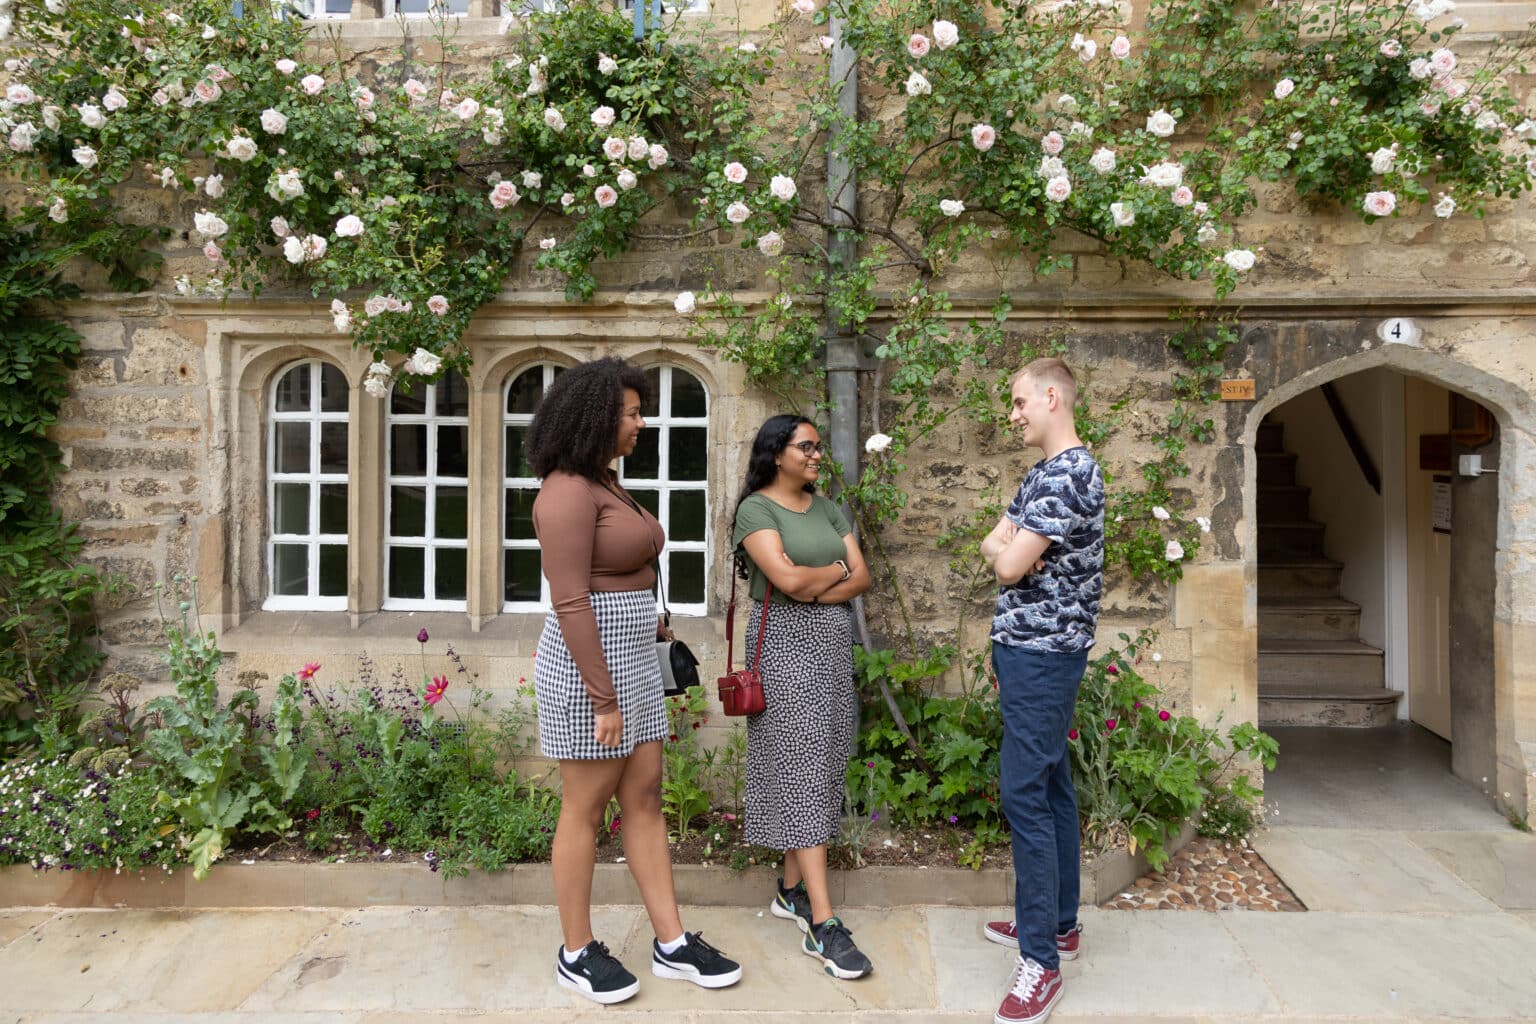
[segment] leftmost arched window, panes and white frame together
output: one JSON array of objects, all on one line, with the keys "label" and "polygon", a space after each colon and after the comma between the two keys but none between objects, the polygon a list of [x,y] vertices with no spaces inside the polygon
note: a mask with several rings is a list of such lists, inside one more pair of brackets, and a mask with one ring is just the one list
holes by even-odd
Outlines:
[{"label": "leftmost arched window, panes and white frame together", "polygon": [[266,608],[347,606],[347,379],[310,359],[267,405]]}]

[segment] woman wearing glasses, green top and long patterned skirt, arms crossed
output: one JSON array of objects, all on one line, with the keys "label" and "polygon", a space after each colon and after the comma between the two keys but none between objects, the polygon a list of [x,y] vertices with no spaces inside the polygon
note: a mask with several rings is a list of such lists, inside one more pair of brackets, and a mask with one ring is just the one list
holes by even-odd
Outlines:
[{"label": "woman wearing glasses, green top and long patterned skirt, arms crossed", "polygon": [[862,978],[869,958],[833,913],[826,844],[854,745],[848,600],[869,590],[869,570],[842,511],[816,493],[823,454],[809,419],[774,416],[757,431],[736,502],[736,567],[753,596],[748,651],[773,585],[759,666],[766,711],[746,720],[746,841],[785,852],[770,909],[805,932],[800,949],[829,975]]}]

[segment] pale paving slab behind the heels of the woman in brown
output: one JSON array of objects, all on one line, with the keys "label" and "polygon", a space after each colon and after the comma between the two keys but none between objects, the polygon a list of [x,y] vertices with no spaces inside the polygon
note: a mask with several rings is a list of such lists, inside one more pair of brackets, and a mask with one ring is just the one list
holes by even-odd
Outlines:
[{"label": "pale paving slab behind the heels of the woman in brown", "polygon": [[[593,909],[617,947],[633,907]],[[568,1006],[553,983],[554,907],[369,907],[346,913],[240,1003],[241,1010],[511,1010]]]}]

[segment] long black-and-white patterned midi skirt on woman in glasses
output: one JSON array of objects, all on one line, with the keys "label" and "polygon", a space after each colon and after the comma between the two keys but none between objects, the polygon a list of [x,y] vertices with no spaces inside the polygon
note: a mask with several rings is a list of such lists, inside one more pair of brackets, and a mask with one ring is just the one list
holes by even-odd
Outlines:
[{"label": "long black-and-white patterned midi skirt on woman in glasses", "polygon": [[[746,657],[762,603],[746,620]],[[854,752],[852,611],[773,605],[763,636],[762,714],[746,720],[746,841],[777,851],[837,838]]]}]

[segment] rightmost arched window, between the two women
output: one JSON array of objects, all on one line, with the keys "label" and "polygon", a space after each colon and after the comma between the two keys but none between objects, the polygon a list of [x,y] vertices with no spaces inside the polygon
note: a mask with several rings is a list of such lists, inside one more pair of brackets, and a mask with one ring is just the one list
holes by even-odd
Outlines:
[{"label": "rightmost arched window, between the two women", "polygon": [[682,367],[651,367],[645,430],[619,481],[667,530],[662,582],[676,613],[705,614],[710,557],[710,393]]}]

